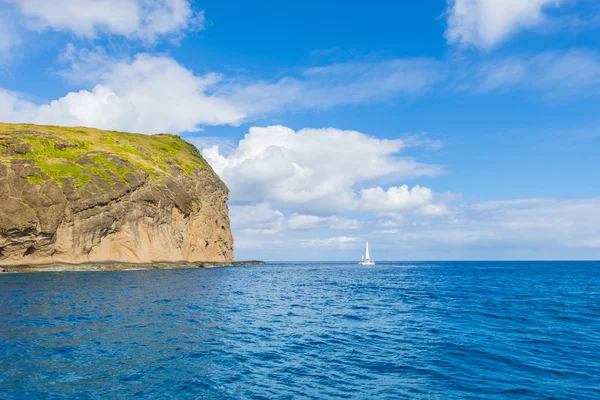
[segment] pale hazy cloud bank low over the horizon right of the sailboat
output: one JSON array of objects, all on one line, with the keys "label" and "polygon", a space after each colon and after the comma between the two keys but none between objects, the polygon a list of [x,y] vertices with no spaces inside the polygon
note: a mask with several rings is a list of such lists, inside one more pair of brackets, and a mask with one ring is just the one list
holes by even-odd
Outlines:
[{"label": "pale hazy cloud bank low over the horizon right of the sailboat", "polygon": [[[372,232],[380,248],[416,258],[552,259],[600,255],[600,198],[519,199],[464,205],[435,224]],[[410,256],[409,256],[410,257]]]}]

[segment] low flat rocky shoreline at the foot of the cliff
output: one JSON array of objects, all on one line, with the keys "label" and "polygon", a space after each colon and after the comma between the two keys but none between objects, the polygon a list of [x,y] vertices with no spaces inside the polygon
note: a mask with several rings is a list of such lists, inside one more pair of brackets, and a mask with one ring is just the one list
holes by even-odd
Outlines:
[{"label": "low flat rocky shoreline at the foot of the cliff", "polygon": [[98,262],[84,264],[23,264],[23,265],[0,265],[0,274],[18,274],[34,272],[85,272],[85,271],[135,271],[146,269],[189,269],[189,268],[214,268],[235,267],[244,265],[261,265],[264,261],[197,261],[197,262],[155,262],[155,263],[120,263],[120,262]]}]

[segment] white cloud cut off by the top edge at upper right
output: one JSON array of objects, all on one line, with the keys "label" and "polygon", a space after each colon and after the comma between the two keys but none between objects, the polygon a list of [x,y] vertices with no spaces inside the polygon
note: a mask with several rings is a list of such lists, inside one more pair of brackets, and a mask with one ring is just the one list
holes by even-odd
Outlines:
[{"label": "white cloud cut off by the top edge at upper right", "polygon": [[449,43],[490,49],[519,30],[547,20],[547,8],[561,0],[448,0]]}]

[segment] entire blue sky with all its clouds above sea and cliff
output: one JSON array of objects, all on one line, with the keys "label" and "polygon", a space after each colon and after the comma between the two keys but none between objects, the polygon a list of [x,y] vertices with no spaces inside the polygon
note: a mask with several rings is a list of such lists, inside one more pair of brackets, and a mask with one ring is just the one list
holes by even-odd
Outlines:
[{"label": "entire blue sky with all its clouds above sea and cliff", "polygon": [[0,0],[0,120],[180,134],[238,259],[599,258],[600,4],[421,3]]}]

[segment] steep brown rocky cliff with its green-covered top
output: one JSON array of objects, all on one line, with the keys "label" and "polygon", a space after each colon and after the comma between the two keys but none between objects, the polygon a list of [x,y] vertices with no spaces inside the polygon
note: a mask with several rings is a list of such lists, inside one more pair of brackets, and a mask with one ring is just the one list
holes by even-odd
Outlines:
[{"label": "steep brown rocky cliff with its green-covered top", "polygon": [[0,265],[233,261],[227,194],[174,135],[0,123]]}]

